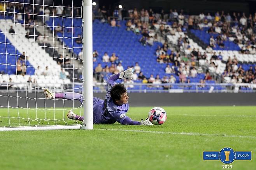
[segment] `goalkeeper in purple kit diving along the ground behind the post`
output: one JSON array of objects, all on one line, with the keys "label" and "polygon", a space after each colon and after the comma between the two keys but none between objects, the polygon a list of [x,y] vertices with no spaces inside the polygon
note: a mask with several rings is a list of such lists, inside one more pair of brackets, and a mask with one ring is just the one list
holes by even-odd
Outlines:
[{"label": "goalkeeper in purple kit diving along the ground behind the post", "polygon": [[[124,72],[110,75],[107,78],[106,97],[105,100],[93,97],[93,123],[94,124],[113,124],[118,122],[120,124],[130,125],[153,125],[148,118],[141,121],[133,121],[130,117],[126,116],[129,109],[127,90],[123,84],[115,84],[117,79],[132,79],[132,68]],[[49,89],[44,89],[46,98],[64,98],[67,100],[83,101],[83,95],[79,93],[53,93]],[[67,117],[69,119],[76,119],[83,121],[84,117],[76,115],[72,110],[68,111]]]}]

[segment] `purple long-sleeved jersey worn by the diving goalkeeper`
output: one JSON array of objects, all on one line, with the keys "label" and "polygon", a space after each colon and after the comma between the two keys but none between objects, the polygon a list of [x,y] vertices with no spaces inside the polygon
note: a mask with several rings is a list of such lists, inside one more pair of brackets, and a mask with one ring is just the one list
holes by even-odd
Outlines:
[{"label": "purple long-sleeved jersey worn by the diving goalkeeper", "polygon": [[105,100],[93,97],[93,123],[112,124],[118,122],[121,124],[139,125],[139,121],[132,121],[130,117],[126,116],[129,104],[116,105],[110,96],[110,90],[115,85],[114,81],[117,79],[119,79],[119,74],[113,74],[107,78]]}]

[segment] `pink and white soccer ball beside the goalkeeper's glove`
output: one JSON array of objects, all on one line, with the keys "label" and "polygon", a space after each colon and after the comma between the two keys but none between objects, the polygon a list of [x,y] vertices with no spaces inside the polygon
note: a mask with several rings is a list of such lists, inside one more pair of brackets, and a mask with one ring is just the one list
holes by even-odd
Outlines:
[{"label": "pink and white soccer ball beside the goalkeeper's glove", "polygon": [[149,111],[149,121],[154,125],[161,125],[167,119],[166,112],[161,107],[154,107]]}]

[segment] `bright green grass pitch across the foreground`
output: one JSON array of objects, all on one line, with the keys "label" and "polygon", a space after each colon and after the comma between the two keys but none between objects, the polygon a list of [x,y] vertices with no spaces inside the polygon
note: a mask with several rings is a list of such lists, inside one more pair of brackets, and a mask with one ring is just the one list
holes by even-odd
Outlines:
[{"label": "bright green grass pitch across the foreground", "polygon": [[[130,107],[133,120],[152,107]],[[252,161],[234,161],[232,169],[255,169],[256,107],[163,107],[161,126],[94,125],[94,130],[0,131],[1,170],[222,169],[220,161],[203,161],[203,151],[231,147],[252,151]],[[65,124],[67,110],[0,109],[15,126]],[[68,109],[68,108],[65,108]],[[79,109],[76,112],[80,112]],[[30,119],[26,119],[30,117]],[[49,119],[49,121],[33,121]],[[75,123],[74,121],[66,121]],[[0,126],[9,119],[0,117]]]}]

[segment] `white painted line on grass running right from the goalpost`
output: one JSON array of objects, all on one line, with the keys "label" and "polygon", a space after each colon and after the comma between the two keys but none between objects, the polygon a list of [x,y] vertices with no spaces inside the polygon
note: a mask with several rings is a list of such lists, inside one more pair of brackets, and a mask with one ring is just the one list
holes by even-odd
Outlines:
[{"label": "white painted line on grass running right from the goalpost", "polygon": [[195,135],[195,136],[215,136],[215,137],[233,137],[233,138],[256,138],[255,136],[241,136],[241,135],[226,135],[226,134],[205,134],[205,133],[191,133],[191,132],[167,132],[167,131],[146,131],[146,130],[127,130],[127,129],[104,129],[94,128],[94,130],[109,130],[109,131],[127,131],[139,133],[159,133],[169,135]]}]

